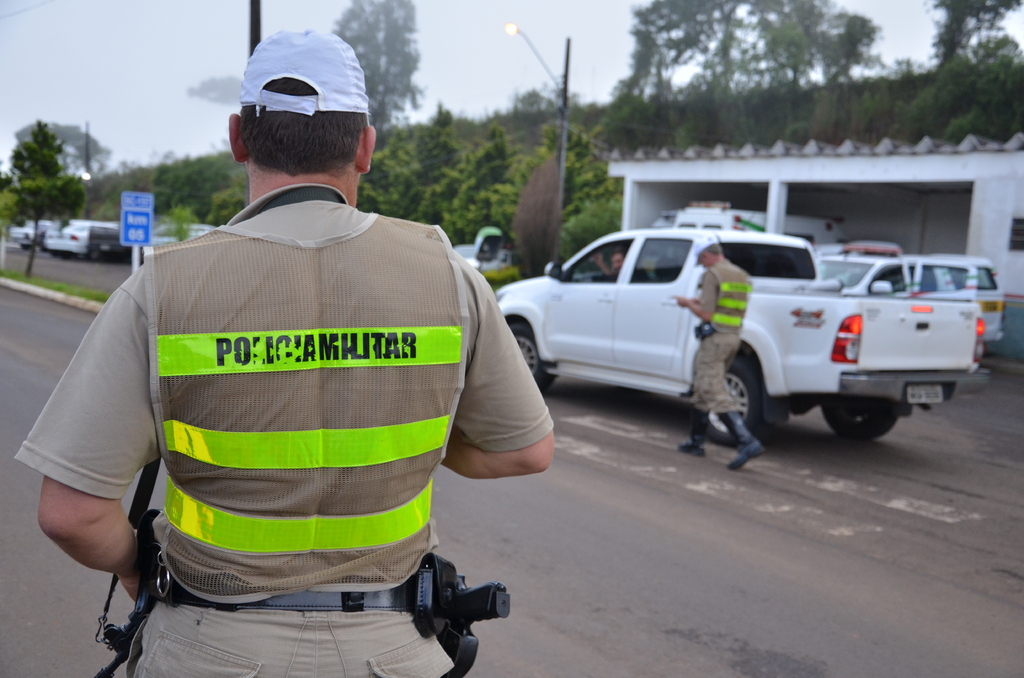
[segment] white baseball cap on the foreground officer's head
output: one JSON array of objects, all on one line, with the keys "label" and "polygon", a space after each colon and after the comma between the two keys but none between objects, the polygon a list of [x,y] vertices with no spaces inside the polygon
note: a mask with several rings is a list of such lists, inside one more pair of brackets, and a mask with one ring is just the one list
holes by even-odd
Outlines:
[{"label": "white baseball cap on the foreground officer's head", "polygon": [[[263,89],[280,78],[301,80],[316,90],[291,96]],[[242,105],[311,116],[317,111],[369,113],[362,69],[351,46],[333,33],[274,33],[256,46],[242,79]]]}]

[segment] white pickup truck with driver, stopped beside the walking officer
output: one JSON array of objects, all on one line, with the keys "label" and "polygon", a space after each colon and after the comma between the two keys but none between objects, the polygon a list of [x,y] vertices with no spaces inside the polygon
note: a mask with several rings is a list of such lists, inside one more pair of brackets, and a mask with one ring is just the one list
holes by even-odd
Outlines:
[{"label": "white pickup truck with driver, stopped beside the walking officer", "polygon": [[[813,251],[799,238],[651,228],[605,236],[549,264],[547,276],[498,290],[541,388],[564,375],[686,395],[696,317],[673,296],[697,295],[696,253],[713,241],[754,283],[726,384],[755,434],[821,406],[839,435],[872,439],[914,405],[987,383],[976,303],[842,296],[835,282],[816,280]],[[730,442],[712,423],[710,436]]]}]

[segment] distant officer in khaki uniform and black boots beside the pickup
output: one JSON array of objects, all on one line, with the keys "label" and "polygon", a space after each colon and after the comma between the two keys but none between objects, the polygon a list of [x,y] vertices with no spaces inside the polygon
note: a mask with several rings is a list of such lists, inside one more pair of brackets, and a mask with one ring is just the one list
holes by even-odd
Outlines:
[{"label": "distant officer in khaki uniform and black boots beside the pickup", "polygon": [[746,429],[736,401],[725,387],[725,373],[739,349],[751,279],[725,258],[718,243],[705,246],[697,254],[697,263],[707,269],[700,279],[700,296],[676,297],[680,306],[689,308],[702,323],[693,370],[690,439],[680,443],[679,451],[703,457],[705,434],[714,413],[736,438],[738,454],[729,463],[729,468],[736,470],[764,452],[761,441]]}]

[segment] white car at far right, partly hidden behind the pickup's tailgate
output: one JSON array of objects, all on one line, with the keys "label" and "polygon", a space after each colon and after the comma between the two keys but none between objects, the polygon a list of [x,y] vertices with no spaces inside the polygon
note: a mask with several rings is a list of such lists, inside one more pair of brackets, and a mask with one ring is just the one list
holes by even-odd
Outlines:
[{"label": "white car at far right, partly hidden behind the pickup's tailgate", "polygon": [[904,259],[909,267],[911,296],[976,301],[985,320],[982,339],[1002,338],[1006,301],[991,260],[963,254],[910,254]]}]

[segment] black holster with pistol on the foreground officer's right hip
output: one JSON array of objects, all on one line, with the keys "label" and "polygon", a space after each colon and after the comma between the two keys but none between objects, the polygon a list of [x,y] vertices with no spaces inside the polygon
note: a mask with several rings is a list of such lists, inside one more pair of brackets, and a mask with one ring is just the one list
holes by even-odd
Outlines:
[{"label": "black holster with pistol on the foreground officer's right hip", "polygon": [[487,582],[473,588],[456,571],[455,565],[437,554],[428,553],[414,576],[416,596],[413,620],[424,638],[437,641],[455,664],[445,678],[462,678],[473,668],[479,641],[470,625],[480,620],[509,616],[511,598],[504,584]]}]

